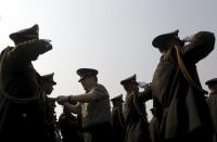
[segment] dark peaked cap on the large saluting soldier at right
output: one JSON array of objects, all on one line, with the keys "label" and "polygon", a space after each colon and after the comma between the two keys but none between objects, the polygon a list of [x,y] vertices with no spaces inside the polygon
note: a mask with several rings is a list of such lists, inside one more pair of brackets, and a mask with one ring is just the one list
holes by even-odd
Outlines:
[{"label": "dark peaked cap on the large saluting soldier at right", "polygon": [[159,36],[157,36],[153,39],[152,46],[154,48],[161,48],[162,46],[164,46],[170,39],[176,39],[176,38],[179,39],[178,34],[179,34],[179,30],[177,29],[173,33],[159,35]]}]

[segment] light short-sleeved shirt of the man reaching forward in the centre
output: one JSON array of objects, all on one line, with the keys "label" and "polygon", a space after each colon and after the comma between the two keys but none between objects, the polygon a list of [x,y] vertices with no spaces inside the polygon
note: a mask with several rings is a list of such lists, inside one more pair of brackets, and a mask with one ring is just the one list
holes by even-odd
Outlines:
[{"label": "light short-sleeved shirt of the man reaching forward in the centre", "polygon": [[94,93],[97,100],[81,103],[82,127],[91,127],[106,121],[111,122],[110,95],[105,87],[97,85],[89,93]]}]

